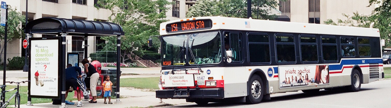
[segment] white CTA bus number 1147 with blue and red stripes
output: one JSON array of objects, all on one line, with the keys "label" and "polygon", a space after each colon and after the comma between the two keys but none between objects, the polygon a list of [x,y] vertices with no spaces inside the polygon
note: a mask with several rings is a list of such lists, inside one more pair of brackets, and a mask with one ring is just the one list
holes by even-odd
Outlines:
[{"label": "white CTA bus number 1147 with blue and red stripes", "polygon": [[384,78],[376,28],[212,16],[161,23],[160,35],[156,98],[256,104],[280,92],[357,92]]}]

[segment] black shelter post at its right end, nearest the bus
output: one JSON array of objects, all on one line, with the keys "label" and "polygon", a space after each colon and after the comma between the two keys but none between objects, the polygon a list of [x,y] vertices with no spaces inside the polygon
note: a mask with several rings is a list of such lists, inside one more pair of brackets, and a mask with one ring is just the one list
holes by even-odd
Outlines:
[{"label": "black shelter post at its right end, nearest the bus", "polygon": [[117,83],[115,86],[117,88],[115,89],[115,93],[117,94],[117,100],[115,101],[116,104],[120,104],[120,57],[121,57],[121,36],[117,35]]}]

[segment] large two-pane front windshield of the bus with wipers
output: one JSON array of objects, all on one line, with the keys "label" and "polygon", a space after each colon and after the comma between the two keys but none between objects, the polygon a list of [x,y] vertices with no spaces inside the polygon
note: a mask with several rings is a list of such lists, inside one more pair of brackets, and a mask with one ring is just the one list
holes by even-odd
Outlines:
[{"label": "large two-pane front windshield of the bus with wipers", "polygon": [[[163,37],[162,66],[212,64],[221,61],[221,39],[217,31]],[[185,49],[187,48],[188,51]]]}]

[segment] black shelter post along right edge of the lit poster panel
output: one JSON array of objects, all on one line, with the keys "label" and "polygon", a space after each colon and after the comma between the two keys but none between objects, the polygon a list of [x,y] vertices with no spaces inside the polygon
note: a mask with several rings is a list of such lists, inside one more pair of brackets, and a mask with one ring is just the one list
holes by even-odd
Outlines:
[{"label": "black shelter post along right edge of the lit poster panel", "polygon": [[65,105],[65,93],[66,93],[66,90],[65,90],[65,52],[66,52],[66,35],[68,35],[68,33],[60,33],[61,34],[61,45],[62,45],[62,49],[61,49],[61,61],[60,61],[60,64],[61,64],[61,80],[62,80],[62,83],[61,83],[61,106],[60,108],[66,108],[67,106]]}]

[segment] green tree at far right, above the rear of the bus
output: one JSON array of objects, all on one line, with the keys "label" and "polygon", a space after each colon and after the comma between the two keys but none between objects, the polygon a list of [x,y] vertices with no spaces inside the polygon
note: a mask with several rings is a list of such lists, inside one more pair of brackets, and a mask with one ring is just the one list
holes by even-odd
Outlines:
[{"label": "green tree at far right, above the rear of the bus", "polygon": [[[354,12],[353,16],[343,14],[347,19],[337,19],[335,23],[332,19],[324,21],[325,24],[341,25],[341,26],[356,26],[369,28],[371,23],[375,23],[373,28],[378,28],[380,31],[380,38],[386,39],[386,46],[391,46],[391,0],[369,0],[369,6],[373,4],[380,4],[379,7],[373,10],[371,15],[361,15]],[[369,7],[368,6],[368,7]]]}]

